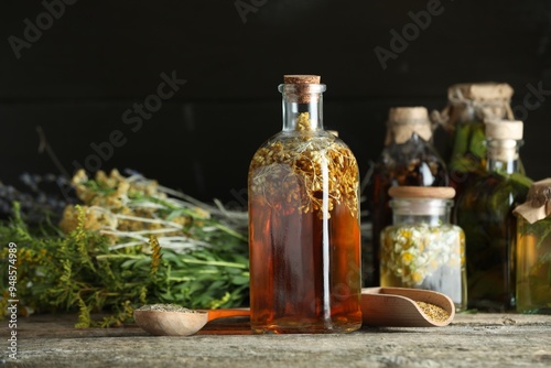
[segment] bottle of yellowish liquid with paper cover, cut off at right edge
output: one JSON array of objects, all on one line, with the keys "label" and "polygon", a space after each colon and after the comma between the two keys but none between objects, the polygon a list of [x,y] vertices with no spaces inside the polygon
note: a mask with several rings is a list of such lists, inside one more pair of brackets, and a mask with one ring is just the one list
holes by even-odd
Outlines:
[{"label": "bottle of yellowish liquid with paper cover, cut off at right edge", "polygon": [[534,182],[517,216],[517,312],[551,314],[551,177]]}]

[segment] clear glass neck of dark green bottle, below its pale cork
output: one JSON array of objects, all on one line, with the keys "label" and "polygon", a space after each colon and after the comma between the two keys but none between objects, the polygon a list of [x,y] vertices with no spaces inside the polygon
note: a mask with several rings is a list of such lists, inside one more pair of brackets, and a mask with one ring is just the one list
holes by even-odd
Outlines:
[{"label": "clear glass neck of dark green bottle, below its pale cork", "polygon": [[500,172],[506,174],[520,172],[519,149],[522,141],[517,140],[487,140],[488,172]]}]

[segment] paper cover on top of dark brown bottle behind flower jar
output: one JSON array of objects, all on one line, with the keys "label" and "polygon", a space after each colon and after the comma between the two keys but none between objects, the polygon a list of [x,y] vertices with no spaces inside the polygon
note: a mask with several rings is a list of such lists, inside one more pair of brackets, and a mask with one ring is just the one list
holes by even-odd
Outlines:
[{"label": "paper cover on top of dark brown bottle behind flower jar", "polygon": [[425,107],[392,107],[388,112],[385,144],[407,142],[413,133],[423,140],[432,139],[432,125]]}]

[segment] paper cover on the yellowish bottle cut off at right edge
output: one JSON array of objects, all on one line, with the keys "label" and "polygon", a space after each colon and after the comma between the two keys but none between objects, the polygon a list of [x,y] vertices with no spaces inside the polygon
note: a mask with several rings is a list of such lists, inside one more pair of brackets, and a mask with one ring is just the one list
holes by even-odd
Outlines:
[{"label": "paper cover on the yellowish bottle cut off at right edge", "polygon": [[551,215],[551,177],[532,183],[528,190],[527,199],[514,212],[533,224]]}]

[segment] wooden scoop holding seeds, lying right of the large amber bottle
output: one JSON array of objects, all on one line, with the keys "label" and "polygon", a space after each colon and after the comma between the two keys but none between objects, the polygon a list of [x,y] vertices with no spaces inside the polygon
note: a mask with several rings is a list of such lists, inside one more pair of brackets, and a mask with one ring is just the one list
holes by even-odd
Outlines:
[{"label": "wooden scoop holding seeds, lying right of the large amber bottle", "polygon": [[[417,302],[425,303],[430,311]],[[436,315],[434,306],[445,313]],[[430,290],[366,288],[361,290],[361,315],[366,326],[442,327],[453,321],[455,304],[447,295]]]}]

